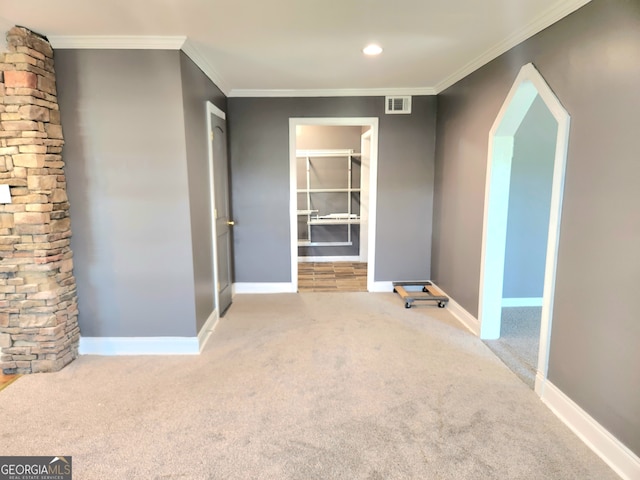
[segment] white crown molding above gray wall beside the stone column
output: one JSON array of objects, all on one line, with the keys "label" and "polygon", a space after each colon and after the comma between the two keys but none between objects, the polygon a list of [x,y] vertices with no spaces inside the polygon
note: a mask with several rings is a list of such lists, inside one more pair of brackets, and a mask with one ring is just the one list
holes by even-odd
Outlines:
[{"label": "white crown molding above gray wall beside the stone column", "polygon": [[54,49],[180,50],[183,35],[48,35]]}]

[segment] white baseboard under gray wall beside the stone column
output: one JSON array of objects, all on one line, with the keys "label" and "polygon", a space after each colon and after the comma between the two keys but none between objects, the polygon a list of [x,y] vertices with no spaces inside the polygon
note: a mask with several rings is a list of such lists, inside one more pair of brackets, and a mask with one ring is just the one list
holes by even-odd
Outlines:
[{"label": "white baseboard under gray wall beside the stone column", "polygon": [[80,355],[198,355],[198,337],[80,337]]}]

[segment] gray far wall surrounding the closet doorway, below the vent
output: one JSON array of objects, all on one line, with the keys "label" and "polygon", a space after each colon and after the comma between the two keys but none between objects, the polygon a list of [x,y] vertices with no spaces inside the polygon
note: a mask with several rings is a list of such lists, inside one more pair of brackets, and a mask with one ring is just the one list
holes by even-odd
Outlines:
[{"label": "gray far wall surrounding the closet doorway, below the vent", "polygon": [[379,117],[377,281],[431,273],[435,97],[230,98],[236,282],[290,282],[289,118]]}]

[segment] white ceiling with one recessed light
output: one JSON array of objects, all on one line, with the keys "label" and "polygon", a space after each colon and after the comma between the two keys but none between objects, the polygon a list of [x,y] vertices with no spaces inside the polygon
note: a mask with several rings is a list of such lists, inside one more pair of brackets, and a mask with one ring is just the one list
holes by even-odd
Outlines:
[{"label": "white ceiling with one recessed light", "polygon": [[[186,37],[231,96],[429,94],[589,1],[0,0],[0,27],[54,48],[180,48]],[[362,54],[370,42],[382,55]]]}]

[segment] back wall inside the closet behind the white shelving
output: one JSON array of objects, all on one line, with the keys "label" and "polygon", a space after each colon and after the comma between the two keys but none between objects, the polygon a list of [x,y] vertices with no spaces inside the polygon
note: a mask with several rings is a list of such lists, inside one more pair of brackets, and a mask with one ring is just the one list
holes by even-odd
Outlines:
[{"label": "back wall inside the closet behind the white shelving", "polygon": [[[355,153],[360,152],[360,142],[363,127],[330,126],[330,125],[306,125],[296,132],[296,149],[299,150],[345,150],[351,149]],[[310,172],[311,188],[344,188],[347,186],[346,157],[341,158],[317,158],[311,159],[313,168]],[[306,188],[306,158],[298,159],[297,176],[299,188]],[[360,185],[360,157],[353,157],[351,162],[351,185]],[[306,206],[306,195],[299,200]],[[348,197],[346,193],[322,193],[311,195],[313,209],[320,210],[319,215],[328,213],[346,212],[348,209]],[[351,212],[360,213],[360,194],[351,195]],[[307,217],[300,216],[298,231],[307,230]],[[322,246],[322,247],[298,247],[300,256],[344,256],[355,255],[360,252],[360,225],[315,225],[312,226],[314,241],[344,242],[348,239],[348,230],[351,229],[351,246]],[[305,233],[306,235],[306,233]]]}]

